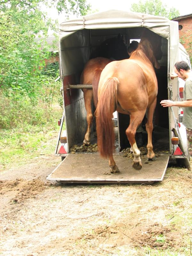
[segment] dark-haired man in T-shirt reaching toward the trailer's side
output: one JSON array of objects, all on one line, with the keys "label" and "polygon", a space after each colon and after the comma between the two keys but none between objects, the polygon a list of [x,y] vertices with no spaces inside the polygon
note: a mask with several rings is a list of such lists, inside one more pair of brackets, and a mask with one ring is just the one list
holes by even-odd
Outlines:
[{"label": "dark-haired man in T-shirt reaching toward the trailer's side", "polygon": [[185,86],[183,89],[183,101],[172,101],[172,100],[162,100],[160,104],[163,107],[177,106],[183,108],[183,121],[187,132],[188,140],[188,152],[192,157],[192,71],[189,68],[187,62],[181,60],[177,61],[174,66],[174,71],[177,76],[185,80]]}]

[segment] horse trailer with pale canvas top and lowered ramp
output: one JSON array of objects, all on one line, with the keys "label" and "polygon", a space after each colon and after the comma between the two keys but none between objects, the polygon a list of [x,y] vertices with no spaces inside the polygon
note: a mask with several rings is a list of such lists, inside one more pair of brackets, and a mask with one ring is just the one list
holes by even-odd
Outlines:
[{"label": "horse trailer with pale canvas top and lowered ramp", "polygon": [[[129,115],[115,113],[116,132],[114,158],[120,172],[111,174],[107,159],[97,152],[95,123],[92,127],[91,146],[83,146],[86,132],[86,110],[80,75],[91,53],[108,38],[118,34],[124,39],[126,47],[132,40],[139,42],[143,29],[149,29],[161,36],[160,68],[156,69],[158,82],[157,104],[154,115],[153,143],[156,161],[146,161],[147,133],[143,132],[144,147],[142,169],[132,168],[130,144],[125,130],[129,125]],[[98,12],[74,20],[61,21],[59,24],[59,60],[61,93],[63,96],[63,116],[60,119],[55,156],[63,160],[47,177],[63,183],[153,183],[162,181],[169,161],[183,162],[190,168],[187,136],[182,124],[182,109],[163,108],[164,99],[182,100],[183,81],[175,78],[174,64],[185,60],[190,66],[189,56],[179,43],[178,22],[164,17],[136,12],[110,10]],[[99,56],[98,56],[99,57]],[[86,86],[86,85],[85,85]],[[91,88],[88,87],[88,88]],[[94,108],[94,107],[93,107]],[[144,127],[144,125],[143,125]],[[175,137],[178,138],[175,143]]]}]

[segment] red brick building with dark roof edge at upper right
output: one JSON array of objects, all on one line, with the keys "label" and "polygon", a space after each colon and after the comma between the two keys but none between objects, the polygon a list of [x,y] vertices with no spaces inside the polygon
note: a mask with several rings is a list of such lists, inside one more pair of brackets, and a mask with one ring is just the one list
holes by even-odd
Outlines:
[{"label": "red brick building with dark roof edge at upper right", "polygon": [[179,23],[180,43],[185,47],[192,61],[192,13],[175,17],[172,20]]}]

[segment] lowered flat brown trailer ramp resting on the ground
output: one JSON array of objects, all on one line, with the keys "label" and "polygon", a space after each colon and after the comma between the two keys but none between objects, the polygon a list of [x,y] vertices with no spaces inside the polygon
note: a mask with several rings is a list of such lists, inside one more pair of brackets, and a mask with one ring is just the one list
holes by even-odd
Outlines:
[{"label": "lowered flat brown trailer ramp resting on the ground", "polygon": [[61,183],[146,183],[162,181],[169,161],[169,154],[160,154],[156,161],[142,160],[142,169],[132,168],[133,160],[122,153],[114,155],[119,167],[117,174],[110,173],[108,160],[100,158],[98,153],[76,153],[68,156],[47,177]]}]

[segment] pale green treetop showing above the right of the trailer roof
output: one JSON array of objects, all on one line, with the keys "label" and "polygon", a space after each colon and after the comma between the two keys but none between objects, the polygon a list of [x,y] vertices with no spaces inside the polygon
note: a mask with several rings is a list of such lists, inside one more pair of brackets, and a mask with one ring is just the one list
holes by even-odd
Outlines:
[{"label": "pale green treetop showing above the right of the trailer roof", "polygon": [[146,2],[140,0],[138,4],[131,5],[131,11],[162,16],[170,20],[180,15],[174,7],[168,9],[166,4],[162,4],[161,0],[147,0]]}]

